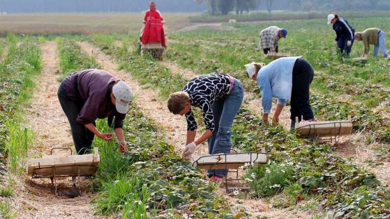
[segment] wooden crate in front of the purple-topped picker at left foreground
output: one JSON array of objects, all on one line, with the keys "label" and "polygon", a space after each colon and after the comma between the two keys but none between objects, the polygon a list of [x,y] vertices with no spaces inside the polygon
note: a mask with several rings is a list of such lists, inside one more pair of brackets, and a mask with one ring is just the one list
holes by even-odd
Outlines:
[{"label": "wooden crate in front of the purple-topped picker at left foreground", "polygon": [[98,148],[93,154],[48,155],[31,158],[27,162],[27,174],[34,178],[61,176],[93,176],[98,168]]}]

